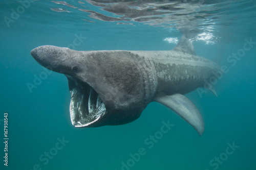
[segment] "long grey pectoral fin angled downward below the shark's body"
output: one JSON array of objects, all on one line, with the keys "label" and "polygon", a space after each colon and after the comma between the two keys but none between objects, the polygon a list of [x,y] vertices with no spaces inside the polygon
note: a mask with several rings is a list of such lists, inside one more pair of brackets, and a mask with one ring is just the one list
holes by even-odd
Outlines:
[{"label": "long grey pectoral fin angled downward below the shark's body", "polygon": [[168,108],[175,111],[182,118],[186,120],[191,126],[193,126],[198,134],[201,136],[204,132],[204,121],[198,111],[197,107],[184,95],[173,94],[173,95],[158,95],[154,98],[158,103],[161,103]]}]

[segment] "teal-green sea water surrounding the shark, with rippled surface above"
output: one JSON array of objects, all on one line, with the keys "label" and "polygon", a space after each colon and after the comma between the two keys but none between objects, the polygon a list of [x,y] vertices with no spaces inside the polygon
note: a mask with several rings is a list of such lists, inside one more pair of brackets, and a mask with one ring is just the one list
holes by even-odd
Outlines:
[{"label": "teal-green sea water surrounding the shark, with rippled surface above", "polygon": [[[256,169],[256,1],[21,0],[0,9],[0,169]],[[197,55],[228,69],[218,98],[186,94],[203,115],[201,137],[156,102],[126,125],[75,128],[67,78],[30,55],[40,45],[172,50],[186,33]]]}]

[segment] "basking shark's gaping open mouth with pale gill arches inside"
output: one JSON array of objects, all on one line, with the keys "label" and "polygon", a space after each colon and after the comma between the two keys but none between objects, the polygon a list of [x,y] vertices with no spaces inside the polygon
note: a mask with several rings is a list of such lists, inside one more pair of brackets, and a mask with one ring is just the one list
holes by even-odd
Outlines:
[{"label": "basking shark's gaping open mouth with pale gill arches inside", "polygon": [[106,108],[100,95],[87,83],[66,75],[71,93],[70,118],[75,127],[96,127]]}]

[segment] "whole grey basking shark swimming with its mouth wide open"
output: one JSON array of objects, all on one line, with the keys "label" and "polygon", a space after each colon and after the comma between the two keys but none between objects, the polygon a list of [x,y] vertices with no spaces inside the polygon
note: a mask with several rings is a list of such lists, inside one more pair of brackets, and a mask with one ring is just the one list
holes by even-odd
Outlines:
[{"label": "whole grey basking shark swimming with its mouth wide open", "polygon": [[201,136],[203,118],[183,94],[203,87],[221,69],[197,56],[185,36],[171,51],[75,51],[43,45],[31,55],[40,65],[68,78],[75,127],[127,124],[139,118],[149,103],[159,102]]}]

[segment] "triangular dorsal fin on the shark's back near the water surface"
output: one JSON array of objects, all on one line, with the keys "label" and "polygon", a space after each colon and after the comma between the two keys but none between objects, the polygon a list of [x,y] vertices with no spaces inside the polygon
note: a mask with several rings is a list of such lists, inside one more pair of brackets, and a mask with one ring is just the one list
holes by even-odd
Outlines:
[{"label": "triangular dorsal fin on the shark's back near the water surface", "polygon": [[194,49],[192,42],[188,38],[186,38],[184,35],[181,37],[178,44],[174,47],[173,50],[196,55],[196,51]]}]

